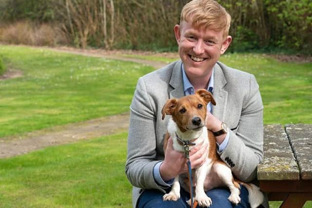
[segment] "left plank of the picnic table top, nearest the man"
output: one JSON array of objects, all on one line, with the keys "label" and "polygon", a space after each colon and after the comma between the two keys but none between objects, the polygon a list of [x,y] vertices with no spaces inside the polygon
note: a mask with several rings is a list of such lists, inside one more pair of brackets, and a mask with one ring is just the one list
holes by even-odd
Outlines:
[{"label": "left plank of the picnic table top, nearest the man", "polygon": [[264,126],[264,159],[257,166],[258,180],[298,180],[299,169],[282,125]]}]

